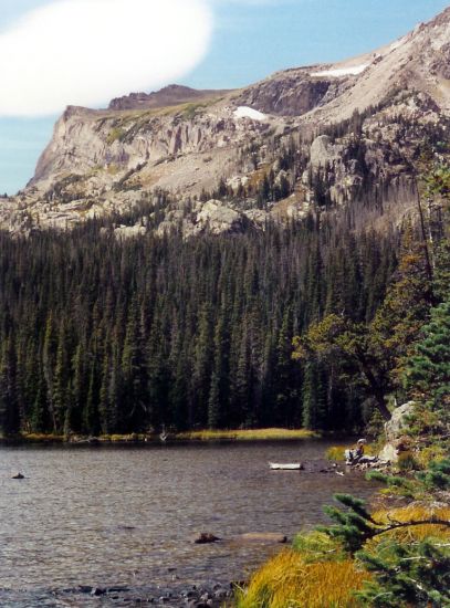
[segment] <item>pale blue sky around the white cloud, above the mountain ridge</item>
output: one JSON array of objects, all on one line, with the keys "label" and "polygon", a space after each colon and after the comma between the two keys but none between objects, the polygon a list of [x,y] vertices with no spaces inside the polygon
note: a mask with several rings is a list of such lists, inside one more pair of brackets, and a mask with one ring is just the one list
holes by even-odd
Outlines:
[{"label": "pale blue sky around the white cloud, above the mountain ridge", "polygon": [[[27,11],[65,0],[0,1],[1,36],[1,33],[8,32],[17,19]],[[151,10],[157,11],[163,0],[147,1]],[[243,86],[284,67],[333,62],[357,55],[402,35],[416,23],[431,19],[448,6],[448,0],[192,0],[192,2],[208,3],[212,30],[209,36],[206,30],[199,33],[199,36],[205,34],[205,49],[188,50],[192,53],[191,65],[179,66],[178,73],[181,75],[176,80],[181,84],[200,88]],[[195,30],[190,27],[190,31],[186,32],[187,36],[196,35],[192,29]],[[180,48],[179,52],[185,51]],[[168,73],[170,76],[167,81],[164,80],[164,75],[158,76],[158,84],[172,82],[171,74],[175,72],[168,69]],[[123,78],[122,82],[125,84],[121,84],[121,78],[114,83],[117,95],[129,92],[126,85],[129,81]],[[138,88],[151,90],[151,82],[156,81],[148,82],[150,83],[148,87]],[[82,84],[80,83],[80,86]],[[3,86],[2,96],[8,94],[8,88]],[[105,95],[102,102],[106,105],[108,96]],[[102,105],[102,102],[98,102],[98,105]],[[72,98],[64,101],[64,105],[71,103],[73,103]],[[48,116],[27,117],[0,115],[0,192],[14,193],[30,179],[38,156],[51,137],[57,114],[59,112]]]}]

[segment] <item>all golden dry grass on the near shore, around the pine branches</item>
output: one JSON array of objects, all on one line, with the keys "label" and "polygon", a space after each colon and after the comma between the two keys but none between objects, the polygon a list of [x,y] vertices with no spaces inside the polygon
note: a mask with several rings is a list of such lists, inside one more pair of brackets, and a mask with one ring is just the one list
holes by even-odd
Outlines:
[{"label": "all golden dry grass on the near shore, around the pine branches", "polygon": [[[373,518],[381,525],[450,521],[450,506],[412,503],[406,507],[379,510]],[[377,555],[384,541],[408,544],[426,538],[448,542],[450,528],[443,525],[408,525],[380,534],[365,545],[365,551]],[[363,606],[355,597],[370,575],[360,569],[357,560],[348,557],[320,532],[301,534],[294,541],[295,549],[287,549],[266,562],[251,577],[245,589],[237,594],[238,608],[349,608]]]}]

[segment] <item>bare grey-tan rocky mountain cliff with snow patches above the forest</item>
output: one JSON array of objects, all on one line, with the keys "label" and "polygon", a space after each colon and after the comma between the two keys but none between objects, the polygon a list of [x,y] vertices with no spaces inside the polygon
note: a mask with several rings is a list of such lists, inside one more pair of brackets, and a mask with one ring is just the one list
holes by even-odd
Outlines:
[{"label": "bare grey-tan rocky mountain cliff with snow patches above the forest", "polygon": [[268,218],[302,217],[320,197],[343,206],[363,191],[384,210],[400,201],[389,211],[400,217],[415,199],[420,147],[447,137],[449,60],[447,9],[375,52],[279,72],[244,90],[171,85],[105,111],[69,107],[33,179],[2,201],[0,227],[64,229],[160,190],[175,202],[159,232],[178,222],[188,235],[261,228]]}]

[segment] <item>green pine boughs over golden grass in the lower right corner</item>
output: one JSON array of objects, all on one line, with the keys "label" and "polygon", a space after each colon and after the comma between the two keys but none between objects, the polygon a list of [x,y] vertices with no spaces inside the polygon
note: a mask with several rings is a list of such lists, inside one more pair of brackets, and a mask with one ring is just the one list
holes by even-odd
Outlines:
[{"label": "green pine boughs over golden grass in the lower right corner", "polygon": [[318,530],[371,575],[355,596],[364,606],[379,608],[450,606],[450,509],[435,506],[448,503],[442,501],[450,491],[450,459],[432,462],[414,479],[370,478],[420,503],[370,514],[364,501],[336,494],[346,509],[325,507],[334,524]]}]

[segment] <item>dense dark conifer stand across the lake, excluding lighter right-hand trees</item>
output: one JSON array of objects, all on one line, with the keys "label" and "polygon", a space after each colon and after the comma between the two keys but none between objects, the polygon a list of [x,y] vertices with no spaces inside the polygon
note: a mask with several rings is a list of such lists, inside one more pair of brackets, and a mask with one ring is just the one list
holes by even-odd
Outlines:
[{"label": "dense dark conifer stand across the lake, excluding lighter right-hand trees", "polygon": [[364,386],[326,365],[305,374],[292,339],[327,313],[370,319],[398,243],[318,214],[187,241],[122,241],[95,221],[1,234],[3,429],[354,429],[368,416]]}]

